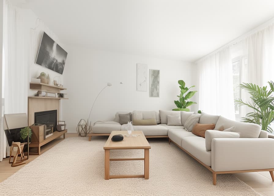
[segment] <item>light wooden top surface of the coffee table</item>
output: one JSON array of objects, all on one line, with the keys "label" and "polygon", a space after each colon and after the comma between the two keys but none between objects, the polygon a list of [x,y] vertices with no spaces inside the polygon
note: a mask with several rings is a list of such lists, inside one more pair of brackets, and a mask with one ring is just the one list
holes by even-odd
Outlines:
[{"label": "light wooden top surface of the coffee table", "polygon": [[[122,134],[123,141],[111,141],[113,135]],[[132,135],[139,135],[137,137],[125,137],[128,135],[127,131],[112,131],[104,146],[104,149],[150,149],[150,145],[146,140],[143,131],[132,131]]]}]

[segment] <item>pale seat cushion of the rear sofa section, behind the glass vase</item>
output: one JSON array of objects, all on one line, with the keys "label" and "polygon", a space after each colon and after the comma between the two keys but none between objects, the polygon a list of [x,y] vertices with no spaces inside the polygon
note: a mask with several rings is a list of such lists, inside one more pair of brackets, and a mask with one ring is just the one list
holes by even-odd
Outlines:
[{"label": "pale seat cushion of the rear sofa section, behind the glass vase", "polygon": [[[135,131],[143,131],[145,136],[168,135],[168,129],[161,125],[149,125],[149,126],[133,125],[133,129]],[[127,126],[122,125],[121,130],[126,131]]]}]

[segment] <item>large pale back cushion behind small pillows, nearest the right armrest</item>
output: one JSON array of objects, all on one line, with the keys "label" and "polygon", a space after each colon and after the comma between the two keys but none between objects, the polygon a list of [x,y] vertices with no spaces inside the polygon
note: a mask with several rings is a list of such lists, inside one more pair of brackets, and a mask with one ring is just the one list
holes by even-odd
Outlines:
[{"label": "large pale back cushion behind small pillows, nearest the right armrest", "polygon": [[228,129],[231,126],[235,126],[233,132],[239,133],[240,138],[258,138],[261,133],[261,126],[253,123],[243,123],[230,120],[220,116],[218,119],[215,129],[219,130],[221,126],[224,126],[224,129]]}]

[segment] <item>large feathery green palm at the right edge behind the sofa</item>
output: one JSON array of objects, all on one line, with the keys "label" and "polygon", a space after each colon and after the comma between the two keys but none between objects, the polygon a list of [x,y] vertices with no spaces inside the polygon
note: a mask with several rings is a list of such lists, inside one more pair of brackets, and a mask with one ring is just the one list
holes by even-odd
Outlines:
[{"label": "large feathery green palm at the right edge behind the sofa", "polygon": [[259,87],[252,83],[240,84],[240,88],[251,95],[251,102],[239,99],[235,100],[235,105],[245,105],[254,110],[254,112],[246,114],[246,117],[242,118],[242,122],[261,125],[262,130],[272,133],[273,129],[270,127],[270,123],[274,120],[274,82],[270,81],[268,84],[269,91],[267,86]]}]

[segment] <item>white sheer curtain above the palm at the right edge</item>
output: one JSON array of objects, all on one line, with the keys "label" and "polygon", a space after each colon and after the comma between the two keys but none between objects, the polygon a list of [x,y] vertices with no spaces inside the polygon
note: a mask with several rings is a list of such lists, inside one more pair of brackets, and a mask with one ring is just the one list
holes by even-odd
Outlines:
[{"label": "white sheer curtain above the palm at the right edge", "polygon": [[248,62],[245,81],[268,85],[274,80],[274,24],[246,37],[243,47]]}]

